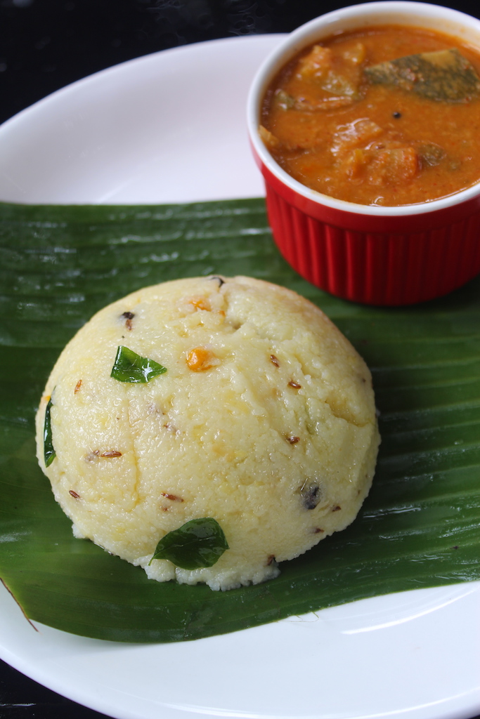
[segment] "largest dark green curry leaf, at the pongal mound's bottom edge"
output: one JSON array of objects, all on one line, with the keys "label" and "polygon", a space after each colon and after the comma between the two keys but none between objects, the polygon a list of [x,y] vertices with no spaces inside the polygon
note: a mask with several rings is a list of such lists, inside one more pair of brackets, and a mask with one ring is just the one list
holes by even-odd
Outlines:
[{"label": "largest dark green curry leaf, at the pongal mound's bottom edge", "polygon": [[216,519],[191,519],[160,539],[150,564],[154,559],[169,559],[182,569],[213,567],[228,548]]}]

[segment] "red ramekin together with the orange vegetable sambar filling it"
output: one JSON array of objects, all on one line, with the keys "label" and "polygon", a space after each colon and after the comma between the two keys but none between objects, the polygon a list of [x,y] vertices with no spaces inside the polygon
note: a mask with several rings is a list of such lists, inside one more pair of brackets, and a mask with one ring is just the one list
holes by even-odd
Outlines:
[{"label": "red ramekin together with the orange vegetable sambar filling it", "polygon": [[273,237],[304,278],[376,305],[480,272],[480,21],[381,1],[308,22],[266,59],[248,130]]}]

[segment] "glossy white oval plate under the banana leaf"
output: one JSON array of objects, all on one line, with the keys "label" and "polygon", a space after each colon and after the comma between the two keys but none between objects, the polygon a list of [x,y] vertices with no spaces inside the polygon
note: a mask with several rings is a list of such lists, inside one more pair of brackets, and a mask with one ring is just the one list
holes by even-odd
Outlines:
[{"label": "glossy white oval plate under the banana leaf", "polygon": [[[245,99],[281,36],[149,55],[0,127],[0,198],[162,203],[260,196]],[[417,590],[178,644],[34,628],[0,590],[0,656],[116,719],[462,719],[480,713],[480,582]]]}]

